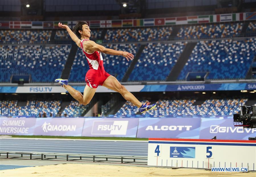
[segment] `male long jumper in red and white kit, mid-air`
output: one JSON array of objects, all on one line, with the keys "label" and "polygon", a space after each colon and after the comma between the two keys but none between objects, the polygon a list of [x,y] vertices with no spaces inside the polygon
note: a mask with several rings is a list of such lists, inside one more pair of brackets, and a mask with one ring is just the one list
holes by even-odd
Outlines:
[{"label": "male long jumper in red and white kit, mid-air", "polygon": [[156,106],[156,104],[150,105],[150,102],[147,104],[142,104],[134,95],[132,95],[132,93],[130,93],[123,85],[121,85],[114,76],[108,74],[103,66],[103,58],[101,52],[109,55],[122,55],[128,61],[132,60],[134,55],[125,51],[106,49],[104,46],[96,44],[94,41],[90,41],[89,38],[91,37],[91,30],[87,22],[77,22],[73,28],[75,34],[67,25],[59,23],[59,27],[66,29],[72,40],[77,44],[78,47],[83,50],[90,68],[85,75],[86,86],[83,91],[83,95],[81,92],[69,86],[67,79],[55,80],[55,82],[64,87],[74,99],[83,105],[89,104],[93,98],[93,95],[95,94],[97,87],[101,85],[120,93],[124,99],[136,105],[140,109],[141,113],[149,111]]}]

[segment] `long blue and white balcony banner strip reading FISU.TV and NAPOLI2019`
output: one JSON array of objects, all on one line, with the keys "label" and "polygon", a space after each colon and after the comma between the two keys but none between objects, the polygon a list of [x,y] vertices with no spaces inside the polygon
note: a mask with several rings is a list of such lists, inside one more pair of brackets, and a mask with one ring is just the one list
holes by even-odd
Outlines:
[{"label": "long blue and white balcony banner strip reading FISU.TV and NAPOLI2019", "polygon": [[[83,92],[85,86],[73,86]],[[125,86],[130,92],[149,91],[228,91],[228,90],[256,90],[256,83],[225,83],[225,84],[177,84],[177,85],[129,85]],[[61,93],[66,90],[60,86],[18,86],[0,87],[0,93]],[[97,93],[111,93],[111,89],[99,86]]]}]

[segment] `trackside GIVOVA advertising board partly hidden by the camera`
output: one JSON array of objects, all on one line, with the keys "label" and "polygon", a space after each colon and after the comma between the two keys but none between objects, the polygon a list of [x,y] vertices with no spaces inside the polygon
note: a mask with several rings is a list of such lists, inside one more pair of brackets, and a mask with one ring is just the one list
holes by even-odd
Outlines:
[{"label": "trackside GIVOVA advertising board partly hidden by the camera", "polygon": [[256,128],[235,127],[233,119],[202,118],[200,139],[245,139],[256,137]]}]

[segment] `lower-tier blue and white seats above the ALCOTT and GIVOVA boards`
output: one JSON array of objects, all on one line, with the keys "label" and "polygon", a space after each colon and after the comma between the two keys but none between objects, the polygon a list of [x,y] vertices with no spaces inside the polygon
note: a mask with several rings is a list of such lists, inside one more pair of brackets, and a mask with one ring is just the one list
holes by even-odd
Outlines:
[{"label": "lower-tier blue and white seats above the ALCOTT and GIVOVA boards", "polygon": [[[239,112],[239,103],[245,104],[248,99],[207,99],[202,105],[193,105],[195,99],[158,100],[156,109],[147,111],[142,116],[156,117],[169,115],[233,115]],[[142,101],[145,103],[146,101]],[[115,116],[135,116],[139,109],[126,102]]]}]

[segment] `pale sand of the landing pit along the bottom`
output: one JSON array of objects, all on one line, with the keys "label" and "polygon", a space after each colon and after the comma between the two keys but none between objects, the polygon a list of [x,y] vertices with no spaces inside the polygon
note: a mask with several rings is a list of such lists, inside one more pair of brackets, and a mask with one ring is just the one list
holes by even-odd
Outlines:
[{"label": "pale sand of the landing pit along the bottom", "polygon": [[247,176],[255,177],[255,172],[211,172],[197,169],[170,169],[105,164],[58,164],[36,167],[1,170],[1,177],[5,176]]}]

